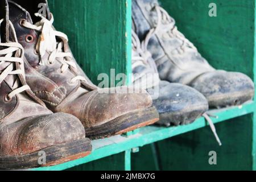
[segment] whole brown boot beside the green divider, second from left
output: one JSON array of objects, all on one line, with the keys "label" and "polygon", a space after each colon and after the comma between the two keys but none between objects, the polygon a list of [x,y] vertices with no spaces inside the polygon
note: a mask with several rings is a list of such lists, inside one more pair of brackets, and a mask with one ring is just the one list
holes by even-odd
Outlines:
[{"label": "whole brown boot beside the green divider, second from left", "polygon": [[[46,6],[46,15],[38,14],[39,3]],[[52,26],[47,1],[15,0],[9,6],[10,20],[25,50],[27,83],[49,109],[75,115],[90,138],[122,134],[158,121],[147,93],[99,92],[76,63],[67,35]]]}]

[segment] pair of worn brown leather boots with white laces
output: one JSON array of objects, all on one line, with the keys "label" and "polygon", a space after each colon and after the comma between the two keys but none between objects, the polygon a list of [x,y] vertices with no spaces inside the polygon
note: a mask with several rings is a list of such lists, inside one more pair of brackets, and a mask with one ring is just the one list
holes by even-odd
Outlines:
[{"label": "pair of worn brown leather boots with white laces", "polygon": [[[44,15],[38,13],[40,3]],[[148,93],[99,92],[76,63],[67,35],[53,27],[46,0],[1,0],[0,9],[1,169],[82,158],[92,151],[86,137],[109,137],[158,121]]]}]

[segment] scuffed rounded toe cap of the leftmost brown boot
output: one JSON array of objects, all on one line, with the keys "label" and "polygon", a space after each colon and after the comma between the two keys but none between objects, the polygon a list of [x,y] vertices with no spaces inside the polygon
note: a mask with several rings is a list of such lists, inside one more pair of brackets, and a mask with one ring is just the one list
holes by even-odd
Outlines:
[{"label": "scuffed rounded toe cap of the leftmost brown boot", "polygon": [[29,154],[56,144],[85,138],[79,119],[70,114],[55,113],[33,118],[19,135],[19,151]]}]

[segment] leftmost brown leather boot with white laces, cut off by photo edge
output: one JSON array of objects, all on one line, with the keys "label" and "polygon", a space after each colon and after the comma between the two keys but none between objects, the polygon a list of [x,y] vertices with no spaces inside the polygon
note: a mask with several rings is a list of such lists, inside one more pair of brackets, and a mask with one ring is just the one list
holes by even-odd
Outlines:
[{"label": "leftmost brown leather boot with white laces, cut off by photo edge", "polygon": [[48,110],[24,78],[24,50],[15,42],[8,6],[0,1],[0,169],[52,166],[90,154],[79,119]]}]

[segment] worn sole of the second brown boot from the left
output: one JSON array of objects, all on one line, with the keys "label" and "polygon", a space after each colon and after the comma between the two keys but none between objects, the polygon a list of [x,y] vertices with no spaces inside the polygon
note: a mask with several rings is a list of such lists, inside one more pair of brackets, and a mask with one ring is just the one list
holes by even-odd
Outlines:
[{"label": "worn sole of the second brown boot from the left", "polygon": [[104,125],[86,128],[85,133],[90,139],[108,138],[152,125],[157,121],[159,121],[158,111],[155,107],[150,107],[122,115]]}]

